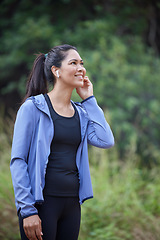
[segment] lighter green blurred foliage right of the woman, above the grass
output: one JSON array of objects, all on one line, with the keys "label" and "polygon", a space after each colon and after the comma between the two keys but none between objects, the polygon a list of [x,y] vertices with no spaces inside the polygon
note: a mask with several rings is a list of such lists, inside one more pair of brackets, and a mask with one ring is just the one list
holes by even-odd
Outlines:
[{"label": "lighter green blurred foliage right of the woman, above the grass", "polygon": [[64,36],[80,46],[98,103],[110,110],[119,159],[133,152],[151,167],[160,161],[160,61],[139,37],[118,38],[115,29],[115,22],[92,20]]}]

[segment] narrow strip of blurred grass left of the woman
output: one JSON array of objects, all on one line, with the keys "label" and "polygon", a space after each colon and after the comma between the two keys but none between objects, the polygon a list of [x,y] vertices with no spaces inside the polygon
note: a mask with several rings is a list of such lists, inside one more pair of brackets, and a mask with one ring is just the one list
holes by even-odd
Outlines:
[{"label": "narrow strip of blurred grass left of the woman", "polygon": [[[1,109],[1,114],[3,109]],[[11,154],[11,128],[10,119],[0,117],[0,239],[18,240],[18,224],[13,197],[13,187],[9,169]]]}]

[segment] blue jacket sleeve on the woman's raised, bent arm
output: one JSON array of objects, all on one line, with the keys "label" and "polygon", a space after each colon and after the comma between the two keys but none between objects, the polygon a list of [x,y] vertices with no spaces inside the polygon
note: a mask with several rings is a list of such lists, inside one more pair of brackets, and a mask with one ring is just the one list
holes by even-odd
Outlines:
[{"label": "blue jacket sleeve on the woman's raised, bent arm", "polygon": [[114,145],[113,133],[95,97],[91,96],[85,99],[82,101],[82,105],[89,118],[87,128],[88,144],[99,148],[112,147]]}]

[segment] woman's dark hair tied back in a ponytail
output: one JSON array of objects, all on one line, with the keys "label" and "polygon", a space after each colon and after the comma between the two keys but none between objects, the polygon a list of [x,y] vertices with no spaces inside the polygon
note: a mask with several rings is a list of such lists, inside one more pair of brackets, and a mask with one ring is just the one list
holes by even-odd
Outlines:
[{"label": "woman's dark hair tied back in a ponytail", "polygon": [[48,54],[46,54],[47,56],[43,53],[38,54],[27,81],[24,101],[30,96],[47,93],[47,81],[53,85],[55,83],[55,77],[51,71],[51,67],[61,67],[62,61],[67,56],[67,51],[71,49],[77,51],[76,47],[64,44],[52,48]]}]

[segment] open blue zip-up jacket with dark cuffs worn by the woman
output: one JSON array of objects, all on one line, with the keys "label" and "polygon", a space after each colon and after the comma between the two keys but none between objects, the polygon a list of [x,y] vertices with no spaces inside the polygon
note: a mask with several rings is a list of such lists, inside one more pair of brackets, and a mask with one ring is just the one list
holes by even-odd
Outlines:
[{"label": "open blue zip-up jacket with dark cuffs worn by the woman", "polygon": [[[87,143],[100,148],[114,145],[112,131],[94,96],[75,104],[81,125],[76,164],[79,201],[93,197]],[[17,211],[22,217],[38,214],[35,203],[43,202],[45,173],[54,126],[43,94],[28,98],[20,107],[14,126],[10,169]]]}]

